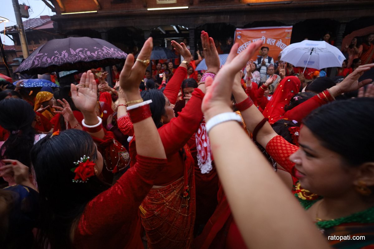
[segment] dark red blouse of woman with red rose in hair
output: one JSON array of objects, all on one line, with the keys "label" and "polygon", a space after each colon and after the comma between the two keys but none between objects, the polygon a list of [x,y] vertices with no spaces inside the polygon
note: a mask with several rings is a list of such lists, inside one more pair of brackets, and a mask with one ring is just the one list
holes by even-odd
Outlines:
[{"label": "dark red blouse of woman with red rose in hair", "polygon": [[74,231],[75,248],[143,249],[138,210],[166,159],[137,156],[137,163],[85,207]]}]

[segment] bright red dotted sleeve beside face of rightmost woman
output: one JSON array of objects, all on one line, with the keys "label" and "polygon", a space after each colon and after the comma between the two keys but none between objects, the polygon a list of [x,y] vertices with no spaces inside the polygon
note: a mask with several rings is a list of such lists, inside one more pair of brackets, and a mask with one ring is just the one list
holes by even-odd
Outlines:
[{"label": "bright red dotted sleeve beside face of rightmost woman", "polygon": [[282,136],[273,137],[266,144],[266,152],[281,165],[287,172],[292,175],[292,169],[295,164],[289,161],[289,156],[295,153],[299,147],[286,141]]}]

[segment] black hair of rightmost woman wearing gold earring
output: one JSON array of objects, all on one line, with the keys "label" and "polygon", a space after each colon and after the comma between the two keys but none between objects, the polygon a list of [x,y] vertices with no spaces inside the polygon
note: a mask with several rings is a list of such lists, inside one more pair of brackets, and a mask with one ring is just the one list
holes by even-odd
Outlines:
[{"label": "black hair of rightmost woman wearing gold earring", "polygon": [[358,166],[374,162],[373,113],[374,98],[339,100],[314,110],[303,124],[322,146]]}]

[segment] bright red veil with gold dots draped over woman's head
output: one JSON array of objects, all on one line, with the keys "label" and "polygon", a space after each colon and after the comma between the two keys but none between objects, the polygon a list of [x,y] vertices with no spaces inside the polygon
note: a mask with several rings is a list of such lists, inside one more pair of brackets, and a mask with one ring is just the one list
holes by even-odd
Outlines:
[{"label": "bright red veil with gold dots draped over woman's head", "polygon": [[283,116],[284,106],[289,104],[289,100],[299,92],[300,85],[300,80],[295,76],[288,76],[281,80],[263,111],[264,117],[269,119],[270,124],[274,124],[280,116]]}]

